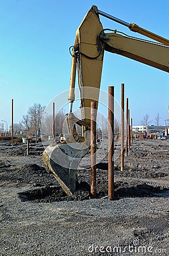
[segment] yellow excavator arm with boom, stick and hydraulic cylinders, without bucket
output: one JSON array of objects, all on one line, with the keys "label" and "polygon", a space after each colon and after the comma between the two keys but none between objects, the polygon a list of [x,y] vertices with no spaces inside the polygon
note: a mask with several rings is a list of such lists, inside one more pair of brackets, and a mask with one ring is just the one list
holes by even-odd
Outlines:
[{"label": "yellow excavator arm with boom, stick and hydraulic cylinders, without bucket", "polygon": [[[148,36],[156,42],[150,42],[133,36],[120,34],[116,30],[113,33],[105,33],[99,14],[115,20],[134,32]],[[160,43],[159,43],[160,42]],[[76,32],[73,47],[70,92],[68,100],[70,102],[70,112],[74,101],[75,71],[78,63],[79,88],[81,98],[82,119],[90,123],[90,102],[91,99],[99,100],[99,88],[102,76],[104,51],[117,53],[130,59],[147,64],[151,67],[169,72],[169,41],[162,36],[139,27],[134,23],[126,23],[111,15],[99,11],[96,6],[92,6],[84,16],[82,23]],[[92,88],[98,88],[96,90]],[[88,91],[90,90],[90,97]]]}]

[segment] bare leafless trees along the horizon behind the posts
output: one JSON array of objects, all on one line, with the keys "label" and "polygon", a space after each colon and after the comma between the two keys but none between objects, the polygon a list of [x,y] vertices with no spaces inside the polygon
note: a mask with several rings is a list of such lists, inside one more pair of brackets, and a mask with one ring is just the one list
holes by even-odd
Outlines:
[{"label": "bare leafless trees along the horizon behind the posts", "polygon": [[[41,130],[47,135],[52,135],[53,131],[53,115],[46,114],[45,106],[42,106],[40,103],[35,103],[33,106],[29,107],[27,113],[23,115],[22,121],[19,123],[14,123],[14,134],[20,134],[20,131],[24,131],[27,134],[35,134],[36,130]],[[43,117],[43,118],[42,118]],[[159,113],[155,117],[154,123],[160,125],[160,115]],[[100,130],[103,132],[108,131],[108,127],[105,122],[105,117],[98,115],[98,122],[100,124]],[[141,125],[148,126],[153,122],[153,119],[150,119],[149,114],[145,114],[141,120]],[[64,125],[65,123],[65,125]],[[119,125],[115,119],[115,133],[119,133]],[[55,126],[54,131],[56,134],[63,133],[63,127],[66,127],[65,122],[65,111],[62,109],[57,113],[55,117]],[[64,129],[65,132],[66,128]],[[79,129],[77,129],[79,131]]]}]

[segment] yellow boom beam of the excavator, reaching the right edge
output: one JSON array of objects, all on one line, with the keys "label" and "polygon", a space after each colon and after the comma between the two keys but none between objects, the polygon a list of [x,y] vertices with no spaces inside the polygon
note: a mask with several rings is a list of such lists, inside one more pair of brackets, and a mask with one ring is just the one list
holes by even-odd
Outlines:
[{"label": "yellow boom beam of the excavator, reaching the right edge", "polygon": [[104,36],[105,50],[129,57],[169,72],[169,48],[125,36],[108,33]]}]

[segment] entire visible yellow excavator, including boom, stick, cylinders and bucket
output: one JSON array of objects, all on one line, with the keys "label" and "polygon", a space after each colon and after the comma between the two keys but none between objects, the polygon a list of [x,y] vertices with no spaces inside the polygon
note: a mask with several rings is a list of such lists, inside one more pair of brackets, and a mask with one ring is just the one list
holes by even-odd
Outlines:
[{"label": "entire visible yellow excavator, including boom, stick, cylinders and bucket", "polygon": [[[153,39],[153,41],[128,36],[117,30],[104,29],[99,15],[114,20],[128,27],[131,31]],[[169,72],[168,46],[169,40],[134,23],[127,23],[104,13],[98,10],[96,6],[92,6],[84,16],[76,32],[71,53],[69,113],[66,115],[68,134],[62,134],[60,142],[53,142],[43,153],[43,163],[46,170],[56,177],[67,195],[71,196],[76,191],[76,170],[79,162],[89,150],[90,106],[91,101],[99,101],[104,51],[117,53]],[[78,119],[73,114],[77,69],[82,119]],[[75,124],[82,126],[82,136],[77,134]]]}]

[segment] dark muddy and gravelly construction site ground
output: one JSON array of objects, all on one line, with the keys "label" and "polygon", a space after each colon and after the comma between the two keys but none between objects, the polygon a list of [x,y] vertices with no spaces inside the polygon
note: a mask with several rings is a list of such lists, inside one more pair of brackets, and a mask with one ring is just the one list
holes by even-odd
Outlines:
[{"label": "dark muddy and gravelly construction site ground", "polygon": [[[107,198],[107,137],[98,144],[97,198],[90,153],[67,196],[43,167],[42,143],[0,143],[0,255],[169,255],[169,140],[134,141],[124,171],[115,141],[115,200]],[[104,198],[103,198],[104,197]]]}]

